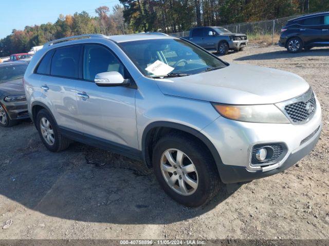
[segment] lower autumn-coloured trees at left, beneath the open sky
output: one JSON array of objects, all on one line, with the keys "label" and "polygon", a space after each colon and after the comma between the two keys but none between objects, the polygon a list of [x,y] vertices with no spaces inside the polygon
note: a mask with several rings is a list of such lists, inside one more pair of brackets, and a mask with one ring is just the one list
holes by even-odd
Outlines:
[{"label": "lower autumn-coloured trees at left, beneath the open sky", "polygon": [[12,33],[0,40],[0,57],[29,51],[33,46],[62,37],[100,33],[116,35],[132,33],[133,30],[124,21],[123,7],[116,5],[112,11],[107,6],[95,10],[95,17],[86,11],[73,15],[60,15],[55,23],[26,26],[24,30],[12,30]]}]

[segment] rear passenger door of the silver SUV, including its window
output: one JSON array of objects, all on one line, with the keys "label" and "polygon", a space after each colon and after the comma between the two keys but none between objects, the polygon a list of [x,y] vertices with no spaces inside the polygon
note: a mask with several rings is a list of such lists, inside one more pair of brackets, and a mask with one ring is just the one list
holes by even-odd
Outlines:
[{"label": "rear passenger door of the silver SUV, including its window", "polygon": [[80,45],[72,45],[50,50],[36,70],[42,75],[39,90],[44,94],[57,124],[76,131],[82,131],[76,101],[80,49]]}]

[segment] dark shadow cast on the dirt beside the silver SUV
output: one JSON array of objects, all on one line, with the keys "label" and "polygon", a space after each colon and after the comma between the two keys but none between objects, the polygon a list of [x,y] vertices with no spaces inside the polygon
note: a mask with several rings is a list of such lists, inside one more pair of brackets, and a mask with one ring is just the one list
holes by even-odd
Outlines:
[{"label": "dark shadow cast on the dirt beside the silver SUV", "polygon": [[[16,126],[14,131],[20,127],[27,128]],[[29,128],[22,130],[35,131],[32,125]],[[0,160],[0,194],[48,216],[119,224],[172,223],[208,212],[241,186],[227,190],[223,185],[206,206],[187,208],[162,191],[142,162],[78,143],[51,153],[36,131],[32,136],[20,144],[22,148],[13,146],[9,161]]]}]

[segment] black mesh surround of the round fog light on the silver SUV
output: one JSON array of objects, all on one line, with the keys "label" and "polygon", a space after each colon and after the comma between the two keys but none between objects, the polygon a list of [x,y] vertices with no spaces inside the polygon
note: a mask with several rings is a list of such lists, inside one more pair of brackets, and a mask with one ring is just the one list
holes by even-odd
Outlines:
[{"label": "black mesh surround of the round fog light on the silver SUV", "polygon": [[[265,159],[264,161],[259,161],[256,159],[256,152],[259,149],[262,148],[271,148],[273,150],[273,153],[269,158]],[[252,153],[251,153],[251,165],[252,166],[268,166],[272,165],[274,163],[277,163],[284,154],[284,148],[281,144],[268,144],[268,145],[255,145],[252,148]]]}]

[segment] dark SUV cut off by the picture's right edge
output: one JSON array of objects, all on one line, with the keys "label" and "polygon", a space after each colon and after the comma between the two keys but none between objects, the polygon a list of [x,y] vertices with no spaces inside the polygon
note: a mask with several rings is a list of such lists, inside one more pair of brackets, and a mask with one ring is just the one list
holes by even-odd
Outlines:
[{"label": "dark SUV cut off by the picture's right edge", "polygon": [[297,53],[303,48],[329,46],[329,12],[288,20],[281,30],[279,46],[290,53]]}]

